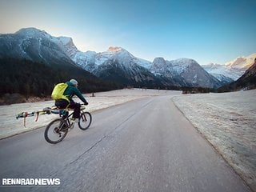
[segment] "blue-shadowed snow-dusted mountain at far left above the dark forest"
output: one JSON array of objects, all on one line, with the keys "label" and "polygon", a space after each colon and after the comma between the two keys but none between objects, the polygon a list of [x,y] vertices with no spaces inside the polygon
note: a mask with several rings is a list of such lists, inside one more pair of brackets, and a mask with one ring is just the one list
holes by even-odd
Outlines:
[{"label": "blue-shadowed snow-dusted mountain at far left above the dark forest", "polygon": [[64,48],[66,38],[54,38],[43,30],[26,28],[15,34],[0,35],[0,58],[26,58],[50,65],[75,65]]}]

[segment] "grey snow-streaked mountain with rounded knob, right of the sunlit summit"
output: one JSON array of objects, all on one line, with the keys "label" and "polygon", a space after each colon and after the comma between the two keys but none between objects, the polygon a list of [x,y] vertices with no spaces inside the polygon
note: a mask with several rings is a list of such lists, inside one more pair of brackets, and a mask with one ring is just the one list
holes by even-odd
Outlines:
[{"label": "grey snow-streaked mountain with rounded knob, right of the sunlit summit", "polygon": [[152,73],[172,79],[178,86],[218,87],[221,82],[208,74],[198,62],[189,58],[179,58],[166,61],[164,58],[155,58],[150,67]]}]

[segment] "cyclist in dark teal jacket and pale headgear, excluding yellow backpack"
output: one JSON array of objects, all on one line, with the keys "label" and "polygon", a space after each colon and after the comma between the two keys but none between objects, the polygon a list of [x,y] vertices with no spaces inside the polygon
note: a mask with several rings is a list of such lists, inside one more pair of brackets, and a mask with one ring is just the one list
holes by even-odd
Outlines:
[{"label": "cyclist in dark teal jacket and pale headgear, excluding yellow backpack", "polygon": [[84,98],[81,92],[78,90],[78,81],[75,79],[71,79],[70,82],[66,82],[68,85],[63,95],[69,99],[69,102],[66,99],[59,99],[55,101],[55,106],[58,106],[61,109],[65,109],[66,107],[70,107],[70,109],[74,109],[74,114],[72,116],[72,122],[78,122],[80,118],[80,103],[74,102],[72,97],[74,95],[78,96],[85,105],[88,105],[86,98]]}]

